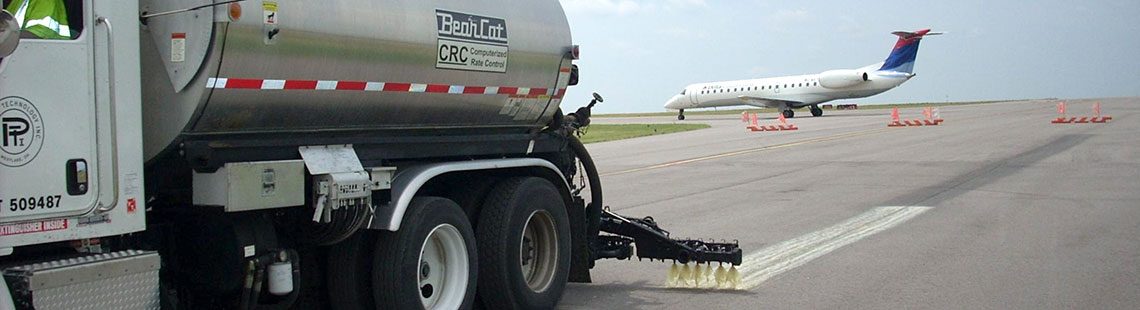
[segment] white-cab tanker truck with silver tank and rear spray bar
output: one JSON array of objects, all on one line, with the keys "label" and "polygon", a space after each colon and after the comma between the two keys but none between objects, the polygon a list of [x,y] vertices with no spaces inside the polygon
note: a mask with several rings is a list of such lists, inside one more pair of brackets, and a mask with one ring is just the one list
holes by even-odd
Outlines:
[{"label": "white-cab tanker truck with silver tank and rear spray bar", "polygon": [[544,309],[601,259],[740,264],[604,206],[557,1],[3,8],[0,309]]}]

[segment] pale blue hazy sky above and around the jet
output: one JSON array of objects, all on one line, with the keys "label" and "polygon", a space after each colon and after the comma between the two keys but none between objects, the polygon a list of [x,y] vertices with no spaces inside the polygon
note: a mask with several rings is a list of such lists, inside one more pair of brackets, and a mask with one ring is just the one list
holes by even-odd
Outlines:
[{"label": "pale blue hazy sky above and around the jet", "polygon": [[580,83],[563,109],[661,112],[691,83],[882,62],[893,31],[931,28],[911,81],[837,103],[1140,96],[1140,1],[561,0]]}]

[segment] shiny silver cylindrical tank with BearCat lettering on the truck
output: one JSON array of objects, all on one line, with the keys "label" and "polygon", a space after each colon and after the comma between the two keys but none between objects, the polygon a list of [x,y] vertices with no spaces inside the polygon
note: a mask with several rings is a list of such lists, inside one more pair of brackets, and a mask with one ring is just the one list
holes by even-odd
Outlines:
[{"label": "shiny silver cylindrical tank with BearCat lettering on the truck", "polygon": [[246,0],[142,22],[147,158],[192,136],[529,132],[570,78],[555,0]]}]

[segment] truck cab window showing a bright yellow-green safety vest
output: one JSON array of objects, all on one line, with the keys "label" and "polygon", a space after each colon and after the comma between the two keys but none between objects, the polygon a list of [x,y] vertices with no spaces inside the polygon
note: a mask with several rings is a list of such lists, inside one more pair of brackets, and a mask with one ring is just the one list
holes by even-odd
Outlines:
[{"label": "truck cab window showing a bright yellow-green safety vest", "polygon": [[21,38],[74,40],[83,30],[82,0],[5,0],[3,8],[16,17]]}]

